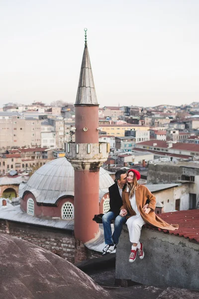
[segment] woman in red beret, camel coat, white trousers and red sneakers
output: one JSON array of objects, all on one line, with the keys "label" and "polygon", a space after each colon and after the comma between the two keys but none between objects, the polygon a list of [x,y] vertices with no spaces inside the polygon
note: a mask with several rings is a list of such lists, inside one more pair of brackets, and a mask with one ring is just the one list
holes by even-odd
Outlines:
[{"label": "woman in red beret, camel coat, white trousers and red sneakers", "polygon": [[[123,205],[120,208],[120,215],[126,217],[126,221],[130,242],[132,243],[129,262],[132,263],[136,259],[136,255],[140,259],[144,258],[143,244],[139,242],[142,225],[148,223],[150,225],[166,230],[178,229],[178,225],[171,225],[163,221],[155,214],[156,198],[144,185],[138,184],[140,173],[136,169],[128,170],[127,186],[122,192]],[[144,207],[146,199],[149,199],[148,207]]]}]

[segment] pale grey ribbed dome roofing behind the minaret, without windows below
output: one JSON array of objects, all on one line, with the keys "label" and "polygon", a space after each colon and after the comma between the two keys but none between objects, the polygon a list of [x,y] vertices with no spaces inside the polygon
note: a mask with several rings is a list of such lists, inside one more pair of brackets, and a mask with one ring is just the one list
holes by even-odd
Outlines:
[{"label": "pale grey ribbed dome roofing behind the minaret, without windows below", "polygon": [[[108,187],[114,183],[108,172],[100,167],[100,198],[108,192]],[[29,178],[27,183],[19,185],[19,196],[31,192],[36,201],[55,204],[62,196],[74,196],[74,168],[65,158],[54,159],[39,169]]]}]

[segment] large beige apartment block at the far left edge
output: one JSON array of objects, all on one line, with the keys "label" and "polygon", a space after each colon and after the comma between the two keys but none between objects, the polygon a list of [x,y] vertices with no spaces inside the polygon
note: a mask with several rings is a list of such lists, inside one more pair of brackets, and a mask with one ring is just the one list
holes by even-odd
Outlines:
[{"label": "large beige apartment block at the far left edge", "polygon": [[41,145],[41,120],[18,112],[0,112],[0,148]]}]

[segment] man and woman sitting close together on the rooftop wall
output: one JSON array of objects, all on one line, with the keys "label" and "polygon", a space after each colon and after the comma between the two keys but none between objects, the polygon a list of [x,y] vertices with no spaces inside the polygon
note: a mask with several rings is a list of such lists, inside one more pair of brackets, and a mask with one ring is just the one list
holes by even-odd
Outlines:
[{"label": "man and woman sitting close together on the rooftop wall", "polygon": [[[127,224],[129,239],[132,243],[129,262],[132,263],[138,254],[144,258],[143,244],[139,242],[142,225],[148,223],[161,229],[175,230],[178,225],[170,225],[155,214],[156,198],[149,189],[137,181],[140,173],[136,169],[118,170],[115,173],[115,184],[109,187],[110,210],[103,215],[102,223],[106,246],[103,254],[116,249],[123,223]],[[111,221],[114,220],[114,232]]]}]

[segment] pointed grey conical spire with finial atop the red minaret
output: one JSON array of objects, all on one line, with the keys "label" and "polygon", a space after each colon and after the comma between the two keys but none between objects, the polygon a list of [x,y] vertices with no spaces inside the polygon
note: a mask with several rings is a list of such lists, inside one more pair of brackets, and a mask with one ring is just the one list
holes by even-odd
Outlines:
[{"label": "pointed grey conical spire with finial atop the red minaret", "polygon": [[80,79],[75,105],[98,105],[96,89],[87,46],[87,28],[85,31],[85,48],[82,58]]}]

